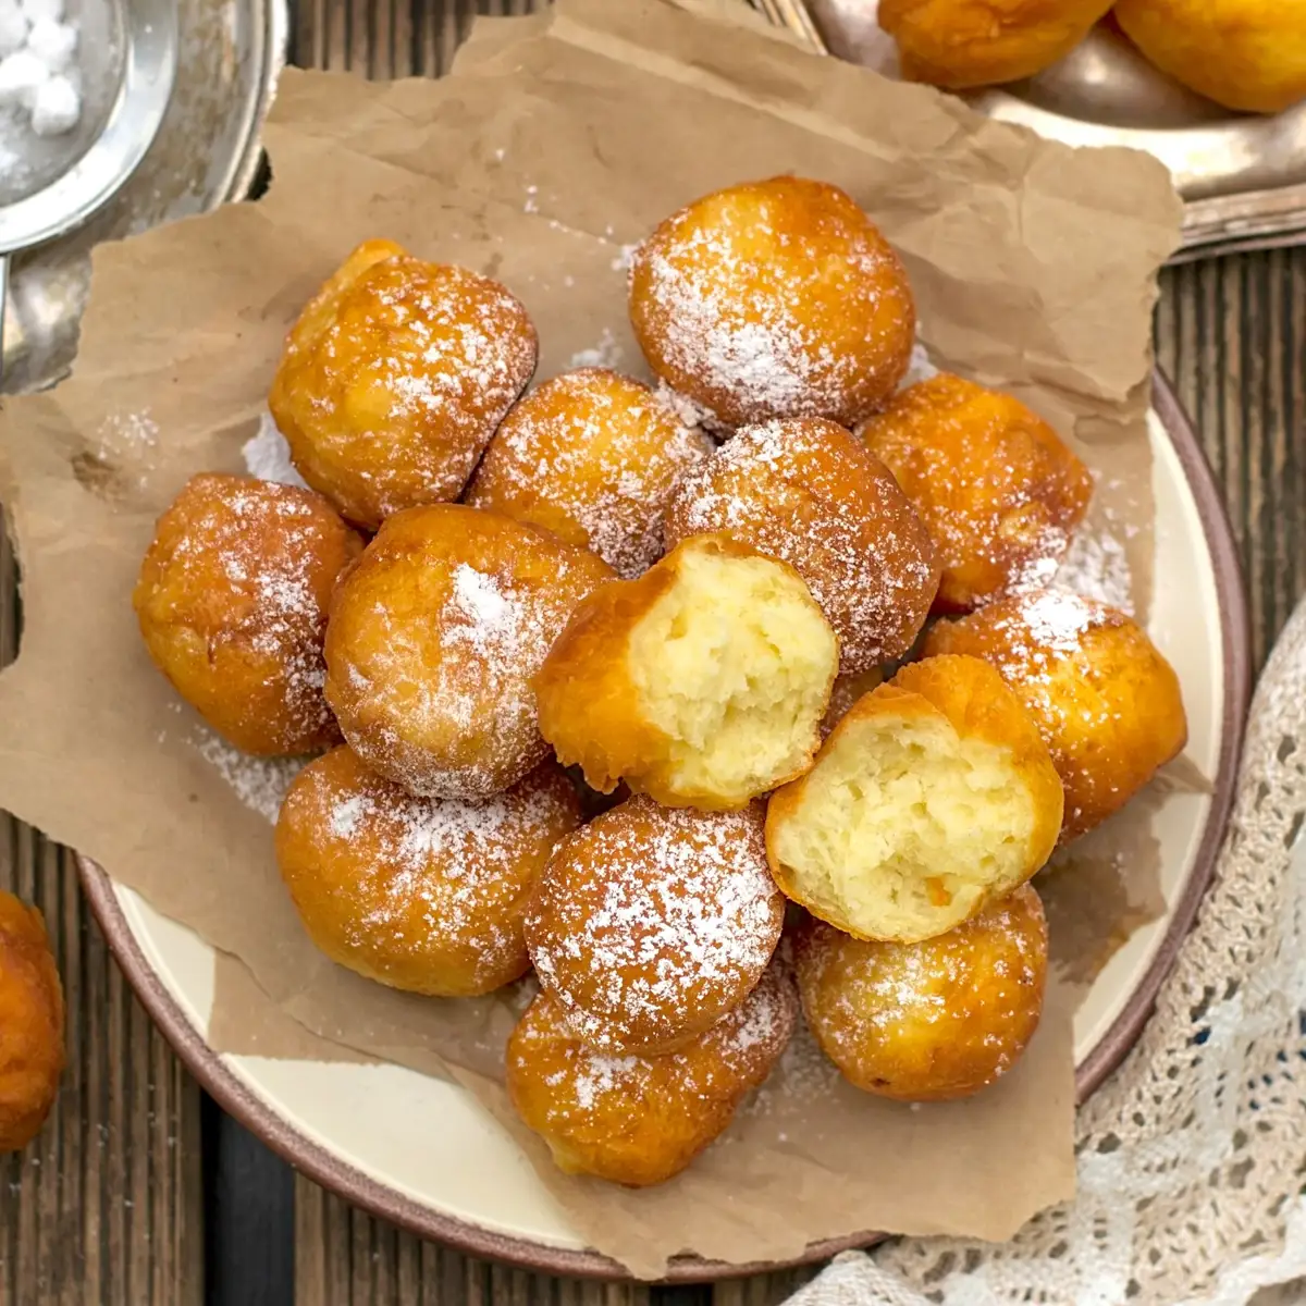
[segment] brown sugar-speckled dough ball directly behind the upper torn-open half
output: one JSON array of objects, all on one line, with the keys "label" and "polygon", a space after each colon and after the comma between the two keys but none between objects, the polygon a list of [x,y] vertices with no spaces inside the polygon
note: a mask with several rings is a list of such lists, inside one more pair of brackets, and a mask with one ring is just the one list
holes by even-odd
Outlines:
[{"label": "brown sugar-speckled dough ball directly behind the upper torn-open half", "polygon": [[682,479],[667,547],[714,530],[807,581],[844,675],[906,653],[939,588],[934,546],[889,470],[821,418],[742,427]]}]

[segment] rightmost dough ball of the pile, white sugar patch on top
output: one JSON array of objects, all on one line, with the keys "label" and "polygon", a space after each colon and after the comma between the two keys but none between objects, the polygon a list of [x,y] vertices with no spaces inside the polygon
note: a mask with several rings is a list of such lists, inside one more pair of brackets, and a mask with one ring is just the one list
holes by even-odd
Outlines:
[{"label": "rightmost dough ball of the pile, white sugar patch on top", "polygon": [[1147,632],[1070,590],[939,622],[925,652],[991,662],[1025,705],[1066,790],[1063,844],[1119,811],[1188,742],[1178,677]]}]

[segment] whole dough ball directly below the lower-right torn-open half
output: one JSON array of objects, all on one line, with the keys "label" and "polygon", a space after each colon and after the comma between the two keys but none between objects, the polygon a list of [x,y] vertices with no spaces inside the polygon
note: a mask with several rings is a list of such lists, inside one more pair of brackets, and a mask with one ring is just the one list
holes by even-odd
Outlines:
[{"label": "whole dough ball directly below the lower-right torn-open half", "polygon": [[943,1102],[994,1083],[1033,1037],[1047,923],[1023,884],[923,943],[865,943],[810,921],[794,966],[807,1024],[845,1079],[880,1097]]}]

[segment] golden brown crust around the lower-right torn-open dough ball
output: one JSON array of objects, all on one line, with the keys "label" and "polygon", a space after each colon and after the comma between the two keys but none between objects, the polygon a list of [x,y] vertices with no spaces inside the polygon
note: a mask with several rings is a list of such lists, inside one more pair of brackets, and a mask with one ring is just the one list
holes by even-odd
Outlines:
[{"label": "golden brown crust around the lower-right torn-open dough ball", "polygon": [[[993,667],[980,658],[935,656],[908,663],[892,680],[858,699],[821,744],[811,771],[771,795],[767,804],[767,858],[771,874],[786,897],[846,934],[896,942],[861,929],[857,921],[848,917],[836,918],[828,902],[816,901],[807,893],[801,875],[780,855],[780,831],[798,816],[807,786],[819,773],[821,761],[840,748],[844,734],[855,724],[874,717],[899,722],[913,717],[930,721],[940,714],[963,741],[982,741],[1003,750],[1012,784],[1023,785],[1029,794],[1034,824],[1025,842],[1021,882],[1030,879],[1047,862],[1060,832],[1064,795],[1033,718]],[[976,899],[969,914],[973,917],[1015,887],[1011,883],[990,884],[987,892]],[[918,938],[929,938],[929,934],[922,932]]]}]

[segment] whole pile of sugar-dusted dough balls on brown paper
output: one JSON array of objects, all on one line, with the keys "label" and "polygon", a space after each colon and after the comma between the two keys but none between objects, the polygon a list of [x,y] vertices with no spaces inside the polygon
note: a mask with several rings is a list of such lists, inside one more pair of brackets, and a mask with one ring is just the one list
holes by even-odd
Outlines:
[{"label": "whole pile of sugar-dusted dough balls on brown paper", "polygon": [[[848,195],[688,205],[628,307],[660,390],[522,393],[508,290],[366,242],[272,385],[310,488],[196,477],[135,606],[208,729],[317,755],[276,829],[317,948],[439,999],[533,970],[512,1102],[562,1169],[641,1186],[730,1124],[799,1000],[871,1093],[1013,1064],[1028,882],[1183,709],[1123,614],[1040,606],[1091,490],[1070,449],[959,377],[900,392],[912,290]],[[970,615],[910,661],[935,611]]]}]

